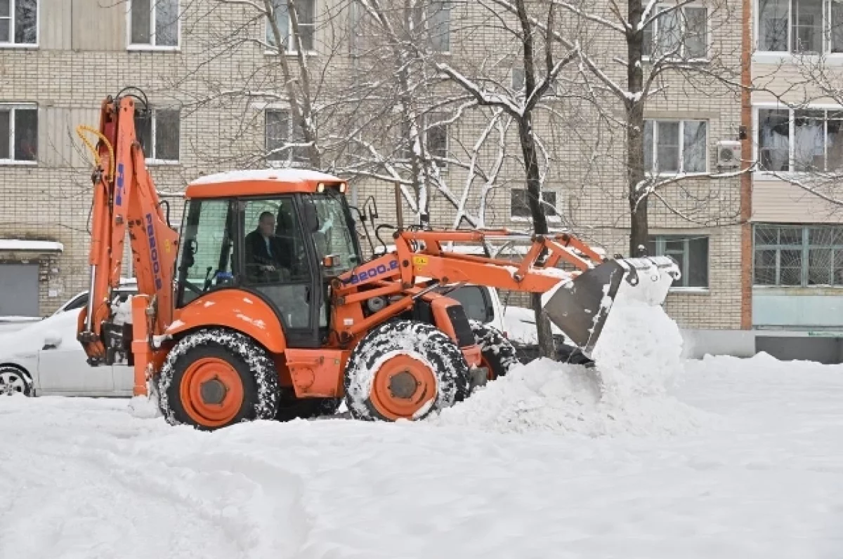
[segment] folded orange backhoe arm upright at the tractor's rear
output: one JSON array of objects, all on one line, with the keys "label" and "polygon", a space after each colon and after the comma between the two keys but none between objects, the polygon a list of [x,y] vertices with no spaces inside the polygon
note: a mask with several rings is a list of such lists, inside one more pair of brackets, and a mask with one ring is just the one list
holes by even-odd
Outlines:
[{"label": "folded orange backhoe arm upright at the tractor's rear", "polygon": [[[173,274],[178,232],[164,216],[135,130],[141,100],[132,95],[106,98],[99,111],[99,130],[80,127],[98,138],[91,146],[96,168],[91,244],[88,257],[90,286],[88,306],[79,313],[78,340],[90,365],[110,365],[115,354],[131,355],[128,326],[121,324],[112,305],[112,290],[120,284],[123,245],[129,233],[139,295],[148,295],[146,324],[137,328],[159,334],[172,321]],[[145,104],[145,103],[144,103]],[[141,297],[143,299],[143,297]],[[124,313],[121,313],[125,316]],[[135,315],[137,317],[137,314]]]}]

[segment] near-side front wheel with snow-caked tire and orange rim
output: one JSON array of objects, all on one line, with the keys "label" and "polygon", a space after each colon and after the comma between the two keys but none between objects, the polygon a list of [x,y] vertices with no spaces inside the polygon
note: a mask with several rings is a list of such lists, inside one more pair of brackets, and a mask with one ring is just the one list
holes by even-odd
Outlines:
[{"label": "near-side front wheel with snow-caked tire and orange rim", "polygon": [[396,320],[357,343],[346,365],[345,389],[352,418],[420,420],[468,397],[469,366],[437,327]]}]

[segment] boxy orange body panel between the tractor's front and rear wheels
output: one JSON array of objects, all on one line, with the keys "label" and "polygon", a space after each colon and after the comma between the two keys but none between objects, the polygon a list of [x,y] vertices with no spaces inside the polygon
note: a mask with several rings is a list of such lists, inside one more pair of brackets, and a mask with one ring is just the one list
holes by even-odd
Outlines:
[{"label": "boxy orange body panel between the tractor's front and rear wheels", "polygon": [[284,352],[297,397],[341,397],[343,371],[351,351],[293,349]]}]

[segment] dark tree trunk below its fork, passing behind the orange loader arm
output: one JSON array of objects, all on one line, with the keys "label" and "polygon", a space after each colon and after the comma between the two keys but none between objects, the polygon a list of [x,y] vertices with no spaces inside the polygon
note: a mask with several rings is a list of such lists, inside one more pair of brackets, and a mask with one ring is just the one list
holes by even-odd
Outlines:
[{"label": "dark tree trunk below its fork, passing behind the orange loader arm", "polygon": [[[533,232],[537,235],[547,234],[547,217],[541,207],[541,177],[539,174],[539,154],[536,151],[535,136],[533,135],[532,114],[526,113],[518,121],[518,136],[521,139],[521,150],[524,152],[524,167],[527,177],[527,199],[529,200],[530,215],[533,217]],[[541,308],[541,295],[534,293],[530,297],[530,305],[535,313],[536,332],[539,335],[539,350],[542,357],[553,359],[556,348],[553,340],[553,330],[550,320]]]}]

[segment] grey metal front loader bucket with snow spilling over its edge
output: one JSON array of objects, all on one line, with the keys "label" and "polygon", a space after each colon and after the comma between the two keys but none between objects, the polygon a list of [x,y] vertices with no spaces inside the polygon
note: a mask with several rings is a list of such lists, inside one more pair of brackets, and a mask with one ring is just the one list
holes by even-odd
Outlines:
[{"label": "grey metal front loader bucket with snow spilling over its edge", "polygon": [[550,322],[590,358],[619,291],[624,299],[658,306],[675,279],[679,267],[670,257],[607,260],[542,295],[542,306]]}]

